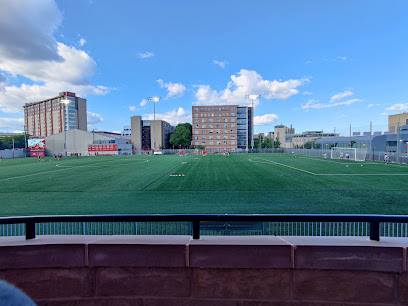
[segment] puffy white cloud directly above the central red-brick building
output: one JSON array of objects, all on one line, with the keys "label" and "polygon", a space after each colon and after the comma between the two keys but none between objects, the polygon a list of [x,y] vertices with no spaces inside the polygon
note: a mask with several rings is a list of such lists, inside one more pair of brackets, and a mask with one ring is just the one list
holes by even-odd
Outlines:
[{"label": "puffy white cloud directly above the central red-brick building", "polygon": [[[193,85],[198,88],[195,94],[195,105],[216,105],[216,104],[240,104],[251,105],[252,101],[245,98],[245,95],[260,94],[261,99],[266,100],[286,100],[299,93],[297,87],[308,82],[308,78],[288,81],[264,80],[260,74],[253,70],[241,69],[237,75],[231,76],[224,90],[217,91],[211,89],[210,85]],[[259,100],[254,101],[257,106]]]}]

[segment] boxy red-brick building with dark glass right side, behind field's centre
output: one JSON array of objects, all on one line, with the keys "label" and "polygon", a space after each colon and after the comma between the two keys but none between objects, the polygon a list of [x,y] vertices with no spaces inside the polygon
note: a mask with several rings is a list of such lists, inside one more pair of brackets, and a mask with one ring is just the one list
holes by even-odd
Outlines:
[{"label": "boxy red-brick building with dark glass right side, behind field's centre", "polygon": [[253,135],[252,107],[212,105],[192,107],[192,145],[209,152],[247,150]]}]

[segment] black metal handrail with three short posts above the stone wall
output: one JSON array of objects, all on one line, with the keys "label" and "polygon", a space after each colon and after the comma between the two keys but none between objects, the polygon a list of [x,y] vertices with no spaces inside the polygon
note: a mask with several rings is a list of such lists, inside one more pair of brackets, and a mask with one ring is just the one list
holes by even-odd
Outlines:
[{"label": "black metal handrail with three short posts above the stone wall", "polygon": [[365,222],[371,240],[380,240],[381,223],[408,223],[402,215],[77,215],[3,217],[0,224],[25,224],[26,239],[36,236],[35,225],[47,222],[191,222],[193,239],[200,239],[200,222]]}]

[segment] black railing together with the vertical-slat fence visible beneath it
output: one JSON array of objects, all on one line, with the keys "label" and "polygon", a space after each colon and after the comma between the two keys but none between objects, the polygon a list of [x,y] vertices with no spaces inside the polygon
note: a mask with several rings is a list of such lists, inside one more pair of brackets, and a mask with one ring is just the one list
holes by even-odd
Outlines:
[{"label": "black railing together with the vertical-slat fence visible beneath it", "polygon": [[279,235],[408,237],[408,216],[391,215],[85,215],[0,218],[0,236]]}]

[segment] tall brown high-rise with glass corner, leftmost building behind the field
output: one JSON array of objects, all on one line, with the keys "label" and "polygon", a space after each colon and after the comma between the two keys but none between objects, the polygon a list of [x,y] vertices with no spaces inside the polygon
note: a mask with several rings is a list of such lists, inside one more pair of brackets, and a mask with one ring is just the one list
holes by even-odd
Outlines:
[{"label": "tall brown high-rise with glass corner, leftmost building behind the field", "polygon": [[63,131],[87,131],[86,99],[73,92],[60,92],[58,97],[26,103],[25,131],[31,136],[47,137]]}]

